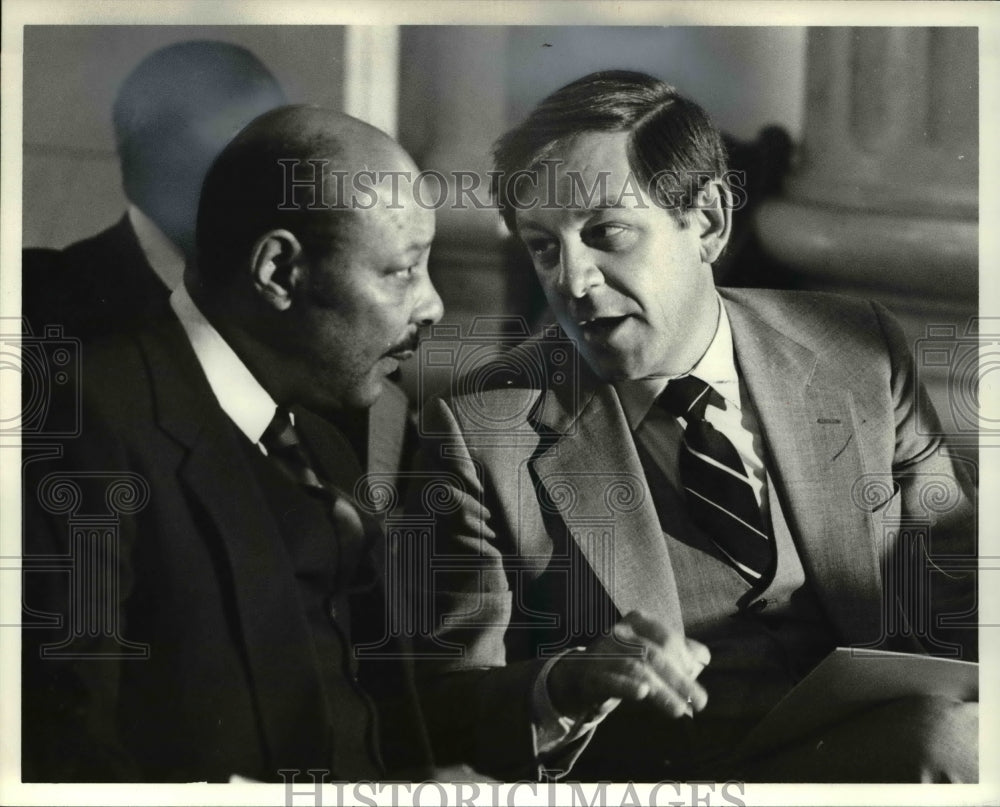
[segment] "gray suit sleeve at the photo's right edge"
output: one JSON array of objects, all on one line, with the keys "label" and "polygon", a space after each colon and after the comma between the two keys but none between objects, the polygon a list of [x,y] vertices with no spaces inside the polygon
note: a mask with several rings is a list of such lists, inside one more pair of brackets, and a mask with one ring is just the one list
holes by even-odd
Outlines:
[{"label": "gray suit sleeve at the photo's right edge", "polygon": [[[888,312],[874,304],[889,347],[896,420],[893,482],[901,515],[899,539],[885,575],[906,628],[932,654],[978,657],[975,465],[951,450],[920,383],[909,345]],[[926,524],[926,536],[907,534]],[[921,540],[921,539],[924,540]]]}]

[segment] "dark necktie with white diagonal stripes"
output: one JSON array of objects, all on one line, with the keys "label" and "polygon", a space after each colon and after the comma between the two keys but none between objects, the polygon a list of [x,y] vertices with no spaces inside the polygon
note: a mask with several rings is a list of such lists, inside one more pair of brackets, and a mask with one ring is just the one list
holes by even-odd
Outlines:
[{"label": "dark necktie with white diagonal stripes", "polygon": [[736,447],[705,420],[712,395],[704,381],[684,376],[667,384],[659,401],[687,421],[679,464],[688,512],[736,571],[756,585],[770,571],[774,544]]}]

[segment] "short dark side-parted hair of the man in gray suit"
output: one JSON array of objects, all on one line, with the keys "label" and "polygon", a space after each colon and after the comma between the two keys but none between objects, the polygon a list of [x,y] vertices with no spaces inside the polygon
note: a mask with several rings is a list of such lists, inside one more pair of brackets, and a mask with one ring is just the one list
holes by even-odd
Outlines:
[{"label": "short dark side-parted hair of the man in gray suit", "polygon": [[584,76],[545,98],[497,140],[491,191],[516,231],[520,172],[537,171],[557,148],[583,132],[630,132],[628,160],[636,179],[678,220],[708,177],[724,179],[726,149],[698,104],[645,73],[606,70]]}]

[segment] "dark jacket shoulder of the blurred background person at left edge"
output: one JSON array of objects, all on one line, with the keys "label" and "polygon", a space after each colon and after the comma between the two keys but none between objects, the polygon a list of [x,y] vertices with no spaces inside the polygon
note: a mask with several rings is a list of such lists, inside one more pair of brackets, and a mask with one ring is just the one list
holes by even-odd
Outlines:
[{"label": "dark jacket shoulder of the blurred background person at left edge", "polygon": [[85,342],[133,333],[170,315],[170,292],[149,265],[128,216],[65,249],[26,249],[22,311],[35,334],[62,325]]}]

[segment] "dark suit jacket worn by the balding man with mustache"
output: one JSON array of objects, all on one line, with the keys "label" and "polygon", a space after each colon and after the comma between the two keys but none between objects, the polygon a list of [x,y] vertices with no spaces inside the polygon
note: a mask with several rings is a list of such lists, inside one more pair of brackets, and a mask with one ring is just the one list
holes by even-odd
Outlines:
[{"label": "dark suit jacket worn by the balding man with mustache", "polygon": [[[371,778],[337,769],[365,745],[380,745],[390,770],[421,770],[408,667],[359,665],[352,652],[384,638],[370,560],[381,530],[369,524],[361,545],[338,537],[341,584],[319,638],[339,660],[321,668],[253,447],[176,319],[92,346],[82,375],[81,434],[61,458],[25,457],[25,778],[276,780],[283,767]],[[360,469],[343,436],[304,410],[297,423],[320,469],[352,491]],[[94,619],[104,628],[87,635]],[[355,707],[367,704],[345,707],[332,729],[320,708],[331,675]]]}]

